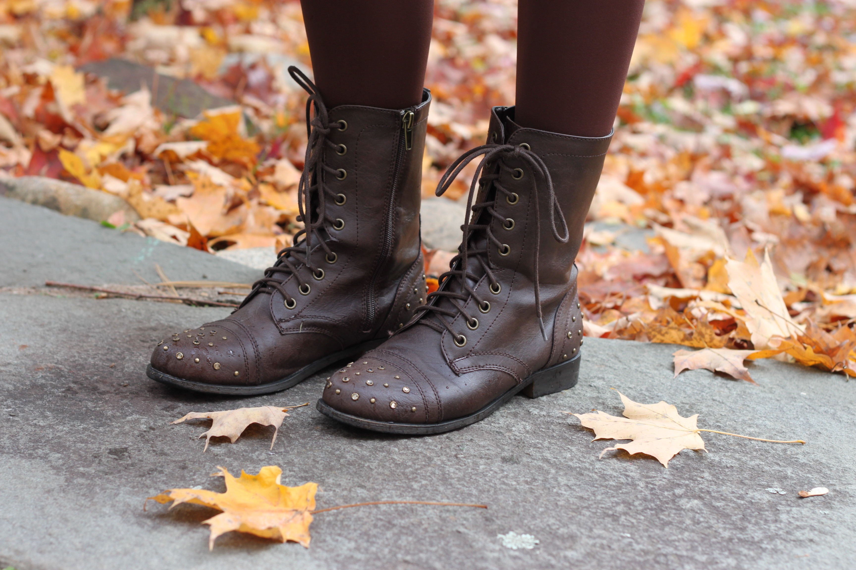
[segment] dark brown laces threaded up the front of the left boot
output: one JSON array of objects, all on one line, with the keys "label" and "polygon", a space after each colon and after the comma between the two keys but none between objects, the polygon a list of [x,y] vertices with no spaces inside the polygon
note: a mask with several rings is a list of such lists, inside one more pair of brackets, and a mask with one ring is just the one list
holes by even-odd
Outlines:
[{"label": "dark brown laces threaded up the front of the left boot", "polygon": [[[329,216],[326,209],[327,197],[336,199],[336,192],[331,190],[326,183],[326,174],[336,175],[338,170],[324,163],[324,147],[336,150],[337,145],[327,138],[330,131],[335,128],[330,124],[327,116],[327,108],[318,88],[312,80],[300,69],[291,66],[288,73],[298,85],[303,87],[309,97],[306,100],[306,157],[304,159],[303,173],[300,175],[300,184],[297,187],[297,207],[299,215],[297,221],[304,222],[304,228],[294,234],[294,240],[290,247],[283,248],[276,255],[276,263],[273,267],[265,269],[265,277],[253,283],[253,290],[241,303],[243,307],[251,298],[258,293],[273,293],[279,291],[285,297],[288,307],[294,307],[296,300],[288,294],[284,285],[290,276],[294,276],[298,289],[304,291],[309,289],[309,284],[301,279],[300,267],[306,267],[314,275],[324,270],[312,265],[312,250],[320,248],[324,252],[325,259],[336,254],[330,250],[327,241],[330,232],[327,231],[335,220]],[[315,116],[312,117],[312,108]],[[302,239],[301,239],[302,238]],[[311,291],[311,290],[310,290]],[[240,308],[239,308],[240,309]]]}]

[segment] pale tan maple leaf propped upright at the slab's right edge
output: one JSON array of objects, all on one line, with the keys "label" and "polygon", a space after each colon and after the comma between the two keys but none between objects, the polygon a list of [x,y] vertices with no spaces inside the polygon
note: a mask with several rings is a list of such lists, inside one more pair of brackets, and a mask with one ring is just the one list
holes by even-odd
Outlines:
[{"label": "pale tan maple leaf propped upright at the slab's right edge", "polygon": [[728,288],[746,310],[746,326],[752,333],[752,344],[756,349],[767,348],[772,337],[788,338],[794,332],[802,331],[788,314],[773,274],[769,252],[764,252],[764,262],[758,264],[752,250],[749,250],[746,261],[729,259],[726,268]]}]

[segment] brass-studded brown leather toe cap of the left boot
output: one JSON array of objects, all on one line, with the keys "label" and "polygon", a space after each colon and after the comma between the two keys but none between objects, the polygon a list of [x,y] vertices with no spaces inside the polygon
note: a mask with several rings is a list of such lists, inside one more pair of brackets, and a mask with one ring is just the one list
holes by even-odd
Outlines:
[{"label": "brass-studded brown leather toe cap of the left boot", "polygon": [[241,339],[220,323],[164,338],[152,352],[152,367],[175,378],[204,384],[246,385],[249,379]]}]

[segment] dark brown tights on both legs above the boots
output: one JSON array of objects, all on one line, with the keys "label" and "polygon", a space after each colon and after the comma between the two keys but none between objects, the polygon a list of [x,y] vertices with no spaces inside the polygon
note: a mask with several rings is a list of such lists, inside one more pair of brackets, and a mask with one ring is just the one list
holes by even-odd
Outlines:
[{"label": "dark brown tights on both legs above the boots", "polygon": [[[520,0],[520,126],[609,134],[645,0]],[[315,83],[328,108],[419,103],[433,0],[301,0]]]}]

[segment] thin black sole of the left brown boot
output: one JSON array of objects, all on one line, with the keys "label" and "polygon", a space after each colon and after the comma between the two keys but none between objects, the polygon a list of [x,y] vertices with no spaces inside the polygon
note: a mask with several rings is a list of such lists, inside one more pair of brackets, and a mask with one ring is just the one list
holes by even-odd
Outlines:
[{"label": "thin black sole of the left brown boot", "polygon": [[355,344],[348,349],[340,350],[330,356],[324,356],[324,358],[319,358],[317,361],[307,364],[305,367],[300,368],[297,372],[291,373],[283,379],[255,386],[193,382],[193,380],[185,380],[163,373],[157,368],[152,367],[151,364],[146,367],[146,376],[155,382],[160,382],[161,384],[168,386],[184,388],[185,390],[205,392],[208,394],[225,394],[227,396],[256,396],[258,394],[270,394],[271,392],[288,390],[288,388],[300,384],[300,382],[309,378],[312,374],[317,373],[319,370],[323,370],[324,368],[335,364],[337,361],[342,361],[352,356],[360,355],[367,350],[377,348],[382,343],[383,339],[372,340],[363,344]]}]

